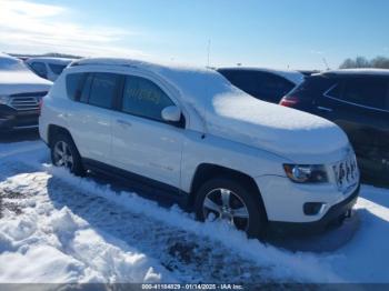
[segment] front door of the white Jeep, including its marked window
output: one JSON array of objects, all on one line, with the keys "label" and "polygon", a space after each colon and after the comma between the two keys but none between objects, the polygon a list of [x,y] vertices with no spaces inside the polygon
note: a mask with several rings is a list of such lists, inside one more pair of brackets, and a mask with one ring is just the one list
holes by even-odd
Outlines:
[{"label": "front door of the white Jeep, including its marked window", "polygon": [[127,76],[123,82],[112,120],[114,165],[161,187],[179,188],[184,129],[161,118],[162,109],[173,101],[147,78]]}]

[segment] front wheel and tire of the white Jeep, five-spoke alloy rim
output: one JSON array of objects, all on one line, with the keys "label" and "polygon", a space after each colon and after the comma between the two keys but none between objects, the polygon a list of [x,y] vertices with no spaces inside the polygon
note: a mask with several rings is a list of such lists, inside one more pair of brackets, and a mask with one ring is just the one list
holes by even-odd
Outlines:
[{"label": "front wheel and tire of the white Jeep, five-spoke alloy rim", "polygon": [[[230,211],[226,209],[226,201],[229,202]],[[246,211],[242,211],[243,208]],[[267,224],[260,199],[256,199],[246,187],[232,179],[216,178],[202,184],[196,195],[194,210],[198,220],[205,221],[212,217],[213,220],[225,219],[250,238],[261,238]]]}]

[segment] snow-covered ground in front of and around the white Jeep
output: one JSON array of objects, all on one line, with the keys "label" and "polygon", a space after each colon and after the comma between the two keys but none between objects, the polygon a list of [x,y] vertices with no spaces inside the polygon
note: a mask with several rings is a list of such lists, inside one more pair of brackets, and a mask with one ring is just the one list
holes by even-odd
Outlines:
[{"label": "snow-covered ground in front of and around the white Jeep", "polygon": [[292,252],[0,143],[0,282],[389,282],[389,190],[363,185],[356,217],[337,250]]}]

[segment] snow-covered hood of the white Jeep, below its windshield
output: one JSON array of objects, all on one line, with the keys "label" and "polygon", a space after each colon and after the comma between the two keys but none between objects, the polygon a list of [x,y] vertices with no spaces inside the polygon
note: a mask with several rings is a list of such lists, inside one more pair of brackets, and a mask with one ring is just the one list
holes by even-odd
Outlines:
[{"label": "snow-covered hood of the white Jeep, below its windshield", "polygon": [[345,132],[335,123],[247,94],[221,94],[207,114],[210,133],[228,137],[295,160],[330,154],[348,147]]}]

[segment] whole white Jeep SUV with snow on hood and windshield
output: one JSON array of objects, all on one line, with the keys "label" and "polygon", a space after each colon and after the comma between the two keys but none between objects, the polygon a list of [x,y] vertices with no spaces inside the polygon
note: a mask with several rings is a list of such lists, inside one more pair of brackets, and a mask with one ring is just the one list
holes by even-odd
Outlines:
[{"label": "whole white Jeep SUV with snow on hood and windshield", "polygon": [[336,124],[257,100],[212,70],[76,61],[44,98],[39,128],[53,164],[151,184],[249,235],[322,229],[359,191]]}]

